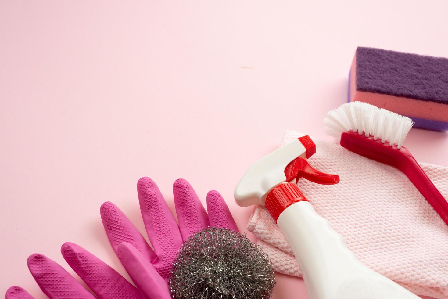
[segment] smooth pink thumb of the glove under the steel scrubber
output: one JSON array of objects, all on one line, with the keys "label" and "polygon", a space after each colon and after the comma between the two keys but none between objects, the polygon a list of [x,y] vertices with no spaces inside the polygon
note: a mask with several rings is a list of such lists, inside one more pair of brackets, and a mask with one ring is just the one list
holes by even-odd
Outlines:
[{"label": "smooth pink thumb of the glove under the steel scrubber", "polygon": [[168,283],[135,247],[129,243],[121,243],[118,246],[118,257],[142,296],[171,299]]}]

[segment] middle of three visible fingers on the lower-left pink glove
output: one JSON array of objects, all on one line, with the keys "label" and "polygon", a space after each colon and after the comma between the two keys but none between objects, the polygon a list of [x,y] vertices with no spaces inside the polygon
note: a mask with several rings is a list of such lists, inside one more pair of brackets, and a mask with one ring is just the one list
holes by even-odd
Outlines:
[{"label": "middle of three visible fingers on the lower-left pink glove", "polygon": [[51,299],[96,299],[64,268],[46,256],[34,253],[28,260],[28,269],[40,289]]}]

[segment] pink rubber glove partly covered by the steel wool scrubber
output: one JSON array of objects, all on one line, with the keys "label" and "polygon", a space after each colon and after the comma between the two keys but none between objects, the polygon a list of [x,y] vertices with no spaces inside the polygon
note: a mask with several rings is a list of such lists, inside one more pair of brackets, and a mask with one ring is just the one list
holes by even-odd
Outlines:
[{"label": "pink rubber glove partly covered by the steel wool scrubber", "polygon": [[169,295],[164,297],[157,294],[160,294],[160,289],[168,289],[171,264],[182,243],[207,226],[238,231],[237,225],[217,191],[207,194],[207,214],[198,195],[184,179],[178,179],[173,184],[179,225],[151,178],[138,180],[137,191],[146,233],[154,250],[125,214],[111,202],[101,206],[104,229],[141,294],[148,298],[170,298]]}]

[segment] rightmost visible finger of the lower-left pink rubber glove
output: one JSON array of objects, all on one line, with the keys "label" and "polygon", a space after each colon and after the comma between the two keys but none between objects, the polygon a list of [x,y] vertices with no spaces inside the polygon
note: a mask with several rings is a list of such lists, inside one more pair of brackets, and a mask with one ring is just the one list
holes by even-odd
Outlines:
[{"label": "rightmost visible finger of the lower-left pink rubber glove", "polygon": [[81,246],[66,242],[60,252],[67,264],[100,299],[142,299],[135,286]]}]

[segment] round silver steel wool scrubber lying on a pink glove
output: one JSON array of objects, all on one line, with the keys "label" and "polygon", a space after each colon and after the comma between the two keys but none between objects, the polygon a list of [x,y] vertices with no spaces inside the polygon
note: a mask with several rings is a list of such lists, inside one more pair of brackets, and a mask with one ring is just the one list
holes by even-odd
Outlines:
[{"label": "round silver steel wool scrubber lying on a pink glove", "polygon": [[191,235],[169,276],[174,299],[267,299],[276,285],[262,248],[233,230],[207,227]]}]

